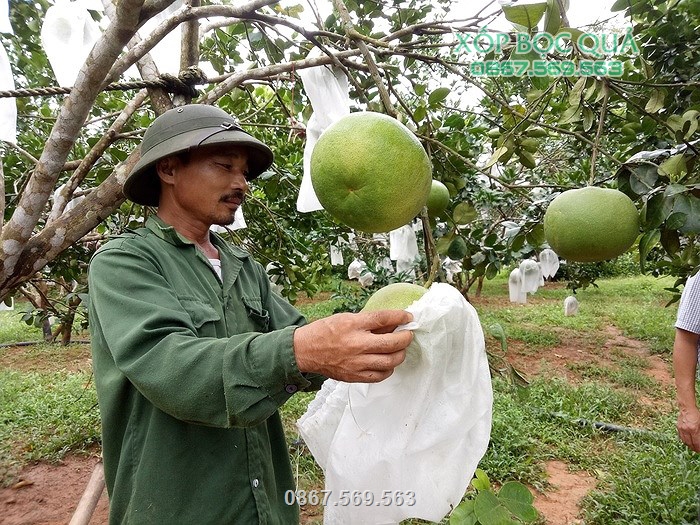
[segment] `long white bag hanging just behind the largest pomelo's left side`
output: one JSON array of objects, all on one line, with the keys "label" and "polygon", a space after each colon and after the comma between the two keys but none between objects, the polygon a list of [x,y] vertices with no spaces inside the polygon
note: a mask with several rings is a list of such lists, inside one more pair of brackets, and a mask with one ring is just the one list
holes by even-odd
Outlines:
[{"label": "long white bag hanging just behind the largest pomelo's left side", "polygon": [[[308,58],[316,56],[321,56],[318,48],[314,48]],[[297,75],[314,110],[306,125],[304,174],[297,197],[297,210],[304,213],[323,209],[311,183],[311,153],[321,133],[336,120],[350,114],[350,88],[345,73],[332,66],[301,69]]]}]

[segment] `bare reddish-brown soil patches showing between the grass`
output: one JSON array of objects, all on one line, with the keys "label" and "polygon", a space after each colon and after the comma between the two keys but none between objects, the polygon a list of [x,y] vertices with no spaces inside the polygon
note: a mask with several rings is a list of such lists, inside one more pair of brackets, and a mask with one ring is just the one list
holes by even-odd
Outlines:
[{"label": "bare reddish-brown soil patches showing between the grass", "polygon": [[[670,365],[657,355],[651,355],[646,346],[629,339],[614,328],[604,332],[602,347],[587,344],[582,339],[563,340],[547,353],[533,353],[517,341],[509,342],[508,355],[525,375],[534,377],[546,373],[548,377],[566,377],[579,381],[581,377],[576,364],[596,363],[605,367],[619,366],[619,356],[643,358],[648,363],[645,373],[659,383],[661,388],[671,388],[673,378]],[[38,357],[29,347],[14,347],[0,354],[0,367],[22,370],[84,370],[90,364],[86,345],[57,353],[47,359]],[[647,400],[658,406],[658,399]],[[664,407],[665,408],[665,407]],[[0,489],[0,524],[2,525],[64,525],[75,511],[80,497],[90,479],[99,452],[91,455],[68,455],[60,464],[38,463],[25,467],[8,487]],[[595,486],[595,478],[586,472],[570,470],[561,461],[550,461],[546,465],[547,492],[533,489],[535,506],[549,525],[575,525],[582,523],[577,517],[579,502]],[[91,520],[92,525],[107,523],[108,501],[103,493]],[[320,516],[302,512],[302,523],[317,523]]]}]

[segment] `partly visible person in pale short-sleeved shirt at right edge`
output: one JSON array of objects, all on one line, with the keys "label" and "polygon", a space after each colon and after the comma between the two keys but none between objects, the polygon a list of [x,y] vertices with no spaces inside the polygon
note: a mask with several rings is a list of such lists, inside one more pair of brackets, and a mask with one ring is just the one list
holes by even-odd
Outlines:
[{"label": "partly visible person in pale short-sleeved shirt at right edge", "polygon": [[695,374],[700,351],[700,273],[688,279],[678,305],[673,369],[678,400],[678,435],[700,452],[700,410],[695,398]]}]

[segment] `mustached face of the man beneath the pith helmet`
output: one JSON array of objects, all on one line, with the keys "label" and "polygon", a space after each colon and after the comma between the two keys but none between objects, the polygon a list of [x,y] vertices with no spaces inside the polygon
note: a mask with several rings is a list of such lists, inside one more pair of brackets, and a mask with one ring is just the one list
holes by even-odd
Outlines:
[{"label": "mustached face of the man beneath the pith helmet", "polygon": [[168,157],[158,164],[160,206],[207,227],[233,222],[248,191],[246,148],[212,145],[196,148],[189,159]]}]

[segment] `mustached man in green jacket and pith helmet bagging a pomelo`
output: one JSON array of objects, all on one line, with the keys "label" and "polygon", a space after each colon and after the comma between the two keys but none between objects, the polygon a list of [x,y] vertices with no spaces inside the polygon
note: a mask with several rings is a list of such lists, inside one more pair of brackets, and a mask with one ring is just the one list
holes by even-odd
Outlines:
[{"label": "mustached man in green jacket and pith helmet bagging a pomelo", "polygon": [[110,523],[289,525],[299,509],[278,408],[325,377],[375,382],[405,357],[399,310],[306,324],[262,266],[210,233],[270,149],[226,112],[167,111],[124,185],[158,206],[90,264],[93,367]]}]

